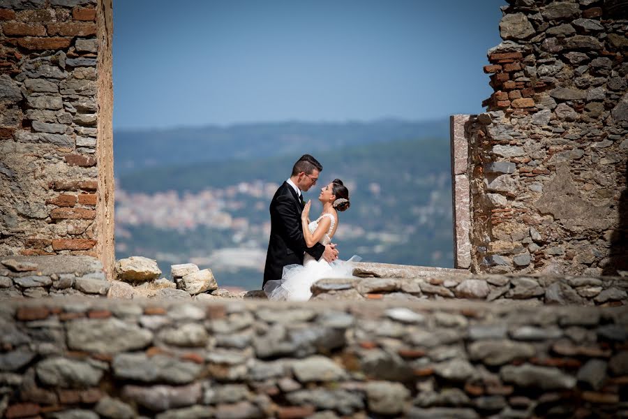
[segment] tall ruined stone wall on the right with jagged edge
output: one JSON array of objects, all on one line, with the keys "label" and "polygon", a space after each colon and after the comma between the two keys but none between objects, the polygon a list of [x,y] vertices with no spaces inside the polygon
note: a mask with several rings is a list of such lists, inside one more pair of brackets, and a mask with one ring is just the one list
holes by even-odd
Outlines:
[{"label": "tall ruined stone wall on the right with jagged edge", "polygon": [[471,269],[628,270],[627,8],[512,0],[469,142]]}]

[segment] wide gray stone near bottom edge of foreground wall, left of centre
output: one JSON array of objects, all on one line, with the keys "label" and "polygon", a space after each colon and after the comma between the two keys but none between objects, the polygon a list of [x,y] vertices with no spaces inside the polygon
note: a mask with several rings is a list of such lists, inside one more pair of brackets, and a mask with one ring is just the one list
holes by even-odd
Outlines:
[{"label": "wide gray stone near bottom edge of foreground wall, left of centre", "polygon": [[170,385],[125,385],[122,397],[151,411],[165,411],[196,404],[202,394],[201,383],[172,387]]}]

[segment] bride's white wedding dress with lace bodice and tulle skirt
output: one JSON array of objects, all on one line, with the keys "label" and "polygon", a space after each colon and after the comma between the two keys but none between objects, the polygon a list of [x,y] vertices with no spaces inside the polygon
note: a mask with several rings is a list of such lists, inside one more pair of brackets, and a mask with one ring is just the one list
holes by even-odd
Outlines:
[{"label": "bride's white wedding dress with lace bodice and tulle skirt", "polygon": [[[322,214],[320,217],[308,224],[310,233],[314,233],[318,227],[318,222],[328,216],[331,220],[329,230],[319,241],[323,246],[331,243],[329,235],[334,230],[336,219],[329,213]],[[264,292],[269,300],[282,301],[307,301],[312,296],[310,288],[312,284],[322,278],[346,278],[353,277],[352,262],[359,261],[358,256],[353,256],[350,260],[334,260],[328,263],[324,258],[315,260],[308,253],[305,253],[303,265],[287,265],[283,268],[281,279],[268,281],[264,286]]]}]

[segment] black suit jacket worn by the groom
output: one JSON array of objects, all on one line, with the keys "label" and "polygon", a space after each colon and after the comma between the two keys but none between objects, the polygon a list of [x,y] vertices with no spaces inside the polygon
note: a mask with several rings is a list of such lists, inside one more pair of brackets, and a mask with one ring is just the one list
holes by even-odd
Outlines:
[{"label": "black suit jacket worn by the groom", "polygon": [[307,247],[301,230],[301,212],[303,205],[297,191],[294,191],[287,182],[283,182],[271,200],[271,235],[262,286],[267,281],[281,279],[284,266],[303,263],[305,251],[316,260],[320,259],[325,251],[325,247],[320,243]]}]

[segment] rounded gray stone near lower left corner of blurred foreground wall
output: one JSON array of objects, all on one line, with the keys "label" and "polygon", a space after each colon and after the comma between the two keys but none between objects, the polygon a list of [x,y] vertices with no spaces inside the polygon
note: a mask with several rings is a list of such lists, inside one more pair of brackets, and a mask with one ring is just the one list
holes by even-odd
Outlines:
[{"label": "rounded gray stone near lower left corner of blurred foreground wall", "polygon": [[66,358],[47,358],[35,371],[41,383],[61,388],[94,387],[103,377],[103,372],[89,363]]}]

